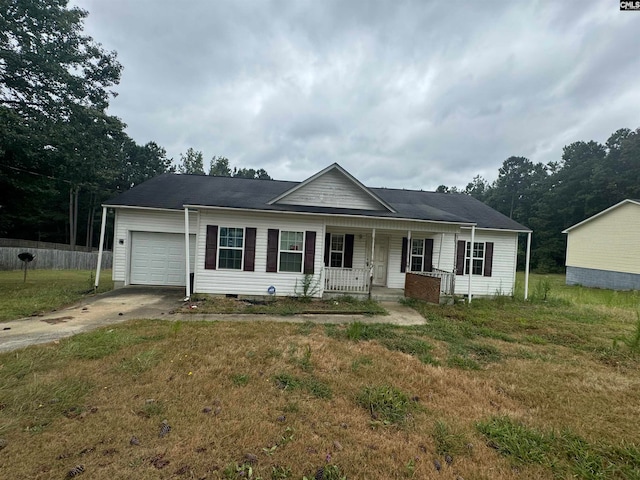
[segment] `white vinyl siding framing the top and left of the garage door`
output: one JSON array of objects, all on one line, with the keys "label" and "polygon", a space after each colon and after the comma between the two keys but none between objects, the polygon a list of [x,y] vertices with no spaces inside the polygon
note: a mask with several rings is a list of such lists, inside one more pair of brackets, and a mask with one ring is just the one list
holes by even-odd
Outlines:
[{"label": "white vinyl siding framing the top and left of the garage door", "polygon": [[[189,212],[189,233],[195,234],[197,216]],[[130,283],[132,232],[180,233],[184,235],[184,211],[118,208],[113,238],[113,271],[116,282]],[[193,258],[193,253],[191,253]]]}]

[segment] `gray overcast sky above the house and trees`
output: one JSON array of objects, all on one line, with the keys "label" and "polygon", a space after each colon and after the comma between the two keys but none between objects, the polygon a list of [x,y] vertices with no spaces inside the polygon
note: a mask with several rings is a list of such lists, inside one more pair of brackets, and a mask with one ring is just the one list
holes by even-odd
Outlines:
[{"label": "gray overcast sky above the house and trees", "polygon": [[110,113],[206,169],[433,190],[640,127],[640,12],[617,0],[74,4],[124,66]]}]

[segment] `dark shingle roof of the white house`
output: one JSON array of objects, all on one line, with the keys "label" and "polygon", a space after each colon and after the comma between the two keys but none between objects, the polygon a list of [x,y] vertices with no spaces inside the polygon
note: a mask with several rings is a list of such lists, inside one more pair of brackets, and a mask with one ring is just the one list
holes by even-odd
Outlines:
[{"label": "dark shingle roof of the white house", "polygon": [[374,211],[283,204],[269,205],[270,200],[295,187],[298,183],[169,173],[137,185],[106,202],[105,205],[170,210],[182,210],[184,205],[201,205],[249,210],[475,223],[480,228],[529,230],[470,195],[455,193],[371,188],[372,192],[393,207],[395,213],[382,209]]}]

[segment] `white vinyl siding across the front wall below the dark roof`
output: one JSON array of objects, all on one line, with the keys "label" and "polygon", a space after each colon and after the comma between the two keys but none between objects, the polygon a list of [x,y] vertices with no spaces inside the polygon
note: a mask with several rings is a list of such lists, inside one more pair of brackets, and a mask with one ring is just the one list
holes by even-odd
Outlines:
[{"label": "white vinyl siding across the front wall below the dark roof", "polygon": [[[376,228],[377,238],[388,238],[387,286],[404,288],[405,274],[400,271],[402,238],[433,239],[433,266],[448,272],[455,268],[456,240],[470,241],[470,230],[460,232],[457,226],[427,222],[393,221],[356,217],[315,216],[284,213],[238,212],[228,210],[191,210],[189,214],[190,233],[196,234],[195,260],[192,272],[195,274],[194,291],[213,294],[266,295],[270,286],[276,288],[276,295],[295,295],[304,277],[302,273],[267,273],[267,234],[269,229],[280,232],[316,233],[314,272],[323,285],[325,231],[340,235],[354,235],[353,268],[370,266],[371,233]],[[640,222],[639,222],[640,223]],[[207,225],[227,228],[256,228],[255,271],[205,270],[205,243]],[[151,209],[116,209],[114,233],[113,279],[129,283],[132,232],[160,232],[183,234],[184,212],[170,212]],[[639,232],[640,234],[640,232]],[[119,240],[122,240],[120,244]],[[517,234],[512,232],[485,231],[476,229],[476,242],[494,242],[493,269],[491,277],[473,276],[473,294],[511,294],[515,282],[515,259]],[[278,245],[279,247],[280,245]],[[218,247],[219,248],[219,247]],[[193,255],[193,254],[192,254]],[[640,253],[638,254],[640,258]],[[456,277],[456,294],[467,292],[467,276]],[[322,295],[322,288],[318,292]]]}]

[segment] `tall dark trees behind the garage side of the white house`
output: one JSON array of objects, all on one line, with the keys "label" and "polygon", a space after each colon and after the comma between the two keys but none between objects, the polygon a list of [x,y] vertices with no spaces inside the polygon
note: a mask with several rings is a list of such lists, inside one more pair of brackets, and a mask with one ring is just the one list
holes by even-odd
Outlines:
[{"label": "tall dark trees behind the garage side of the white house", "polygon": [[[204,173],[202,152],[176,168],[107,113],[122,65],[83,33],[87,14],[68,0],[0,0],[0,236],[96,246],[105,200],[162,173]],[[211,168],[269,177],[225,157]]]}]

